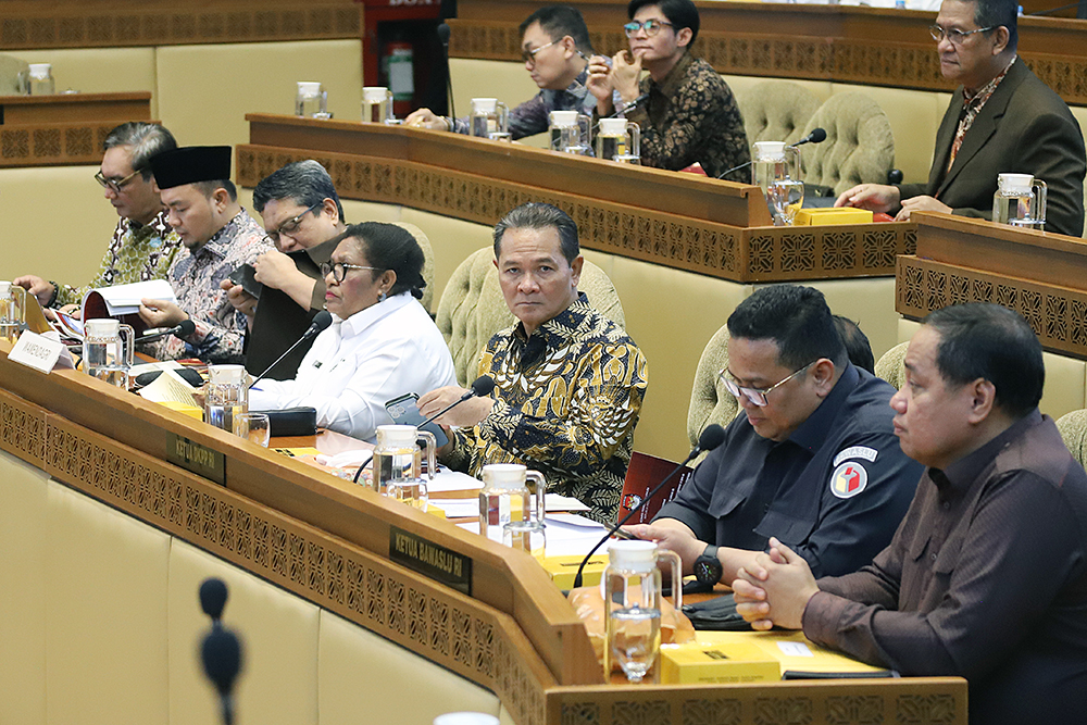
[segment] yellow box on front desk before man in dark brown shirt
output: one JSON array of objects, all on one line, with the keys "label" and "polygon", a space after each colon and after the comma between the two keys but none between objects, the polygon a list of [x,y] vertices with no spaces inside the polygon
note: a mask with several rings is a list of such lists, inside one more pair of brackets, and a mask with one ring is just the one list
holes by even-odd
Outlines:
[{"label": "yellow box on front desk before man in dark brown shirt", "polygon": [[780,663],[753,643],[695,641],[661,646],[664,685],[772,683],[780,678]]}]

